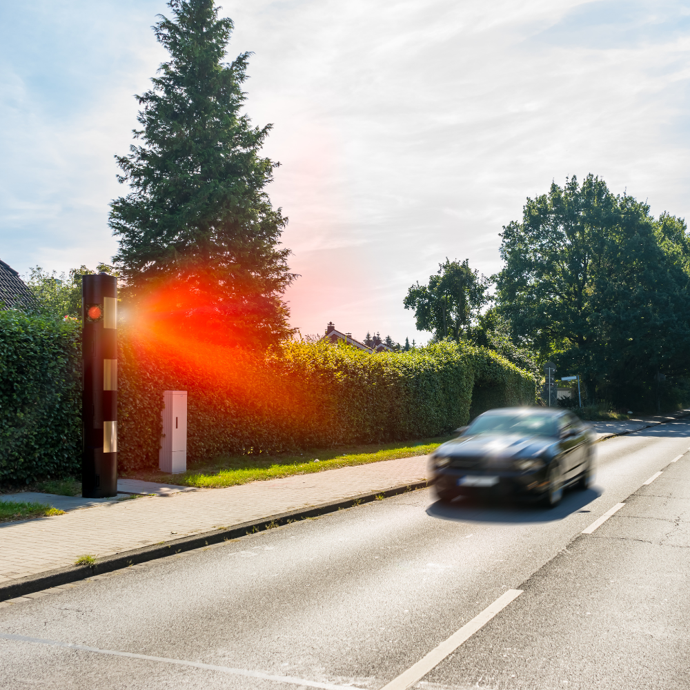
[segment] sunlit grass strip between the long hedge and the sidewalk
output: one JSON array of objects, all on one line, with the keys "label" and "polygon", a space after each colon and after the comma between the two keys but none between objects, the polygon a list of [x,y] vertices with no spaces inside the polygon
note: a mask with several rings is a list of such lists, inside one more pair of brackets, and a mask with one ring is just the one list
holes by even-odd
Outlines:
[{"label": "sunlit grass strip between the long hedge and the sidewalk", "polygon": [[428,438],[415,441],[413,444],[403,442],[353,446],[339,450],[317,449],[305,451],[301,455],[221,455],[212,462],[201,462],[190,466],[184,474],[169,475],[160,471],[138,471],[120,476],[147,482],[215,489],[221,486],[236,486],[296,474],[322,472],[337,467],[428,455],[450,438],[450,436]]}]

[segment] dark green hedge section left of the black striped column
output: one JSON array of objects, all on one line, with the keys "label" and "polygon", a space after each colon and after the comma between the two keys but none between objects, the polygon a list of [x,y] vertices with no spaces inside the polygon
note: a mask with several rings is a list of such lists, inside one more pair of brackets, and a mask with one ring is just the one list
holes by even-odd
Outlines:
[{"label": "dark green hedge section left of the black striped column", "polygon": [[81,331],[0,311],[0,482],[81,472]]}]

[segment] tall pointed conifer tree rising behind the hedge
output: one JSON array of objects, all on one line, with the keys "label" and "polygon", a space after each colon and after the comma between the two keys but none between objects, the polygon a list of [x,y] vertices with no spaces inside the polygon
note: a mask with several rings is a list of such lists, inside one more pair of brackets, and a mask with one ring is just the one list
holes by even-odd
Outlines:
[{"label": "tall pointed conifer tree rising behind the hedge", "polygon": [[277,163],[259,152],[271,126],[244,113],[249,53],[224,63],[233,21],[213,0],[170,0],[153,27],[170,59],[137,96],[141,146],[117,157],[131,191],[112,201],[115,262],[128,296],[172,324],[235,344],[290,333],[293,281],[279,237],[287,219],[264,191]]}]

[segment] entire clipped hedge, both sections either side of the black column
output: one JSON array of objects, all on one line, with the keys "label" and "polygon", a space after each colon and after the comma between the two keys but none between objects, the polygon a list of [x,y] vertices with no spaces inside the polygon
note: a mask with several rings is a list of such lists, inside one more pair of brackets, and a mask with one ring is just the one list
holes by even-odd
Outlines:
[{"label": "entire clipped hedge, both sections either side of the black column", "polygon": [[[0,481],[78,473],[78,328],[8,312],[0,329]],[[165,390],[188,391],[188,462],[431,437],[535,400],[529,373],[449,342],[378,355],[302,342],[248,352],[121,329],[118,359],[123,470],[157,467]]]}]

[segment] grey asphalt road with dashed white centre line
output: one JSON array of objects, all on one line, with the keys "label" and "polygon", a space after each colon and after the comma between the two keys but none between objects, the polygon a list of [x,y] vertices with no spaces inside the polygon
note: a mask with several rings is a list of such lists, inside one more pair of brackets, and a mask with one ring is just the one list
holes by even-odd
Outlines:
[{"label": "grey asphalt road with dashed white centre line", "polygon": [[0,685],[400,690],[518,590],[412,687],[687,689],[689,446],[684,420],[598,444],[550,511],[426,489],[0,609]]}]

